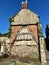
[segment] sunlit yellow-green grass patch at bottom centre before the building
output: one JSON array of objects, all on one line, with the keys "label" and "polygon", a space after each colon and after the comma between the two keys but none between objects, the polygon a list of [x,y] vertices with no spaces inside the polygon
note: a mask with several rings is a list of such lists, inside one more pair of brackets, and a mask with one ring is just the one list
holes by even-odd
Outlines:
[{"label": "sunlit yellow-green grass patch at bottom centre before the building", "polygon": [[28,64],[40,63],[39,59],[18,59],[15,65],[28,65]]}]

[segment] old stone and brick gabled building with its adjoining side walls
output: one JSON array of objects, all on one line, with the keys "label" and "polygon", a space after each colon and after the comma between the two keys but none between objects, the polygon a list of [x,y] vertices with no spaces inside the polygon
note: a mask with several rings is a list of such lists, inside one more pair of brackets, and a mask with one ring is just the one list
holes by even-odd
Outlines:
[{"label": "old stone and brick gabled building with its adjoining side walls", "polygon": [[28,9],[27,1],[22,2],[22,9],[10,18],[10,37],[1,44],[1,52],[9,52],[19,58],[39,59],[46,63],[45,42],[42,34],[42,25],[39,16]]}]

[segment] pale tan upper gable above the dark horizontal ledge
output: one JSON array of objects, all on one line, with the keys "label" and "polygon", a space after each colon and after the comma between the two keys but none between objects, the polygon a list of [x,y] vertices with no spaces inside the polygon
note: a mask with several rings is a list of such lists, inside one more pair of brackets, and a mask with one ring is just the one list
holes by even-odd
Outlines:
[{"label": "pale tan upper gable above the dark horizontal ledge", "polygon": [[21,9],[21,11],[11,18],[11,25],[25,25],[39,22],[39,17],[29,9]]}]

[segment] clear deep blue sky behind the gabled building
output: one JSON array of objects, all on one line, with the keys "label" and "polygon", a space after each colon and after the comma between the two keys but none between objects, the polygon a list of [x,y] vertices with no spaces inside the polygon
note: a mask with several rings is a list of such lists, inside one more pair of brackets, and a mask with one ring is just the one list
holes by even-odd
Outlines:
[{"label": "clear deep blue sky behind the gabled building", "polygon": [[[2,34],[9,31],[9,18],[21,10],[22,1],[25,0],[0,0],[0,32]],[[49,0],[28,0],[28,9],[40,16],[45,36],[46,24],[49,24]]]}]

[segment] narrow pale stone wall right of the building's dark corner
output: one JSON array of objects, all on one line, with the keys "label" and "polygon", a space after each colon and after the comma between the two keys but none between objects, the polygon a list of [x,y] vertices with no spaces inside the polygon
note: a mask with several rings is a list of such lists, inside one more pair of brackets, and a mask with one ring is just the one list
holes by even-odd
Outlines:
[{"label": "narrow pale stone wall right of the building's dark corner", "polygon": [[45,49],[45,42],[44,42],[44,38],[40,37],[40,53],[41,53],[41,62],[42,65],[46,65],[46,49]]}]

